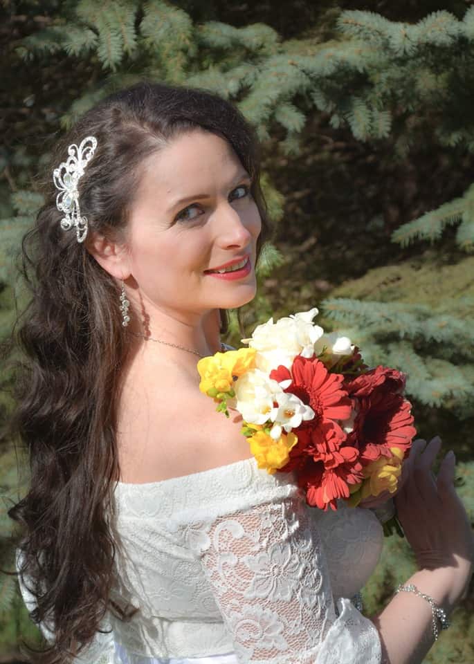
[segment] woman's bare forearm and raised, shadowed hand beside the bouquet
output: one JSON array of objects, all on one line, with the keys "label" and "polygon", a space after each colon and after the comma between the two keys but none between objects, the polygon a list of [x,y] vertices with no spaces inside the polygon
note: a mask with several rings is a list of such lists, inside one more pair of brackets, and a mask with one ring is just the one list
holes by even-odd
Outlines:
[{"label": "woman's bare forearm and raised, shadowed hand beside the bouquet", "polygon": [[[432,439],[426,448],[424,443],[414,441],[407,480],[395,499],[405,537],[419,565],[406,584],[412,583],[432,597],[449,616],[468,592],[474,538],[453,485],[454,457],[444,457],[436,477],[432,463],[441,440]],[[434,643],[430,604],[413,593],[398,593],[373,620],[390,664],[419,664]]]}]

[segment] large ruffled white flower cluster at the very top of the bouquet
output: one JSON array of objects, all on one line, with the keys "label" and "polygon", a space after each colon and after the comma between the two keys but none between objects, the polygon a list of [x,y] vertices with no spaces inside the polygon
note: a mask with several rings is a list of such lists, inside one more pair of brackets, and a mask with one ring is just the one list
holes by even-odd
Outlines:
[{"label": "large ruffled white flower cluster at the very top of the bouquet", "polygon": [[317,313],[318,309],[313,307],[309,311],[280,318],[275,323],[270,318],[258,325],[250,339],[241,340],[257,350],[255,366],[269,374],[280,365],[289,369],[297,355],[312,358],[314,344],[324,334],[322,327],[312,322]]}]

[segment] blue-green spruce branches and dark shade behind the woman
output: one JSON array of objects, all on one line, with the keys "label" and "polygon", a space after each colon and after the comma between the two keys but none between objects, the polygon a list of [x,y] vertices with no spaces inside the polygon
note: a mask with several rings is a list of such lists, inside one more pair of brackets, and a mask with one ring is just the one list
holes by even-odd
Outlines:
[{"label": "blue-green spruce branches and dark shade behind the woman", "polygon": [[[471,3],[2,6],[0,337],[10,333],[15,302],[24,305],[14,258],[61,131],[110,91],[143,77],[217,91],[257,127],[275,222],[259,296],[244,307],[246,328],[316,304],[318,322],[346,331],[370,364],[408,371],[419,433],[439,432],[455,450],[472,519]],[[230,342],[239,338],[234,322]],[[6,359],[3,421],[12,407],[9,367]],[[21,486],[12,441],[2,436],[0,445],[0,565],[8,566],[6,509]],[[386,540],[364,589],[369,611],[390,598],[410,564],[405,542]],[[473,661],[473,608],[470,596],[426,661]],[[31,635],[27,625],[15,582],[1,575],[0,656],[15,655],[19,636]]]}]

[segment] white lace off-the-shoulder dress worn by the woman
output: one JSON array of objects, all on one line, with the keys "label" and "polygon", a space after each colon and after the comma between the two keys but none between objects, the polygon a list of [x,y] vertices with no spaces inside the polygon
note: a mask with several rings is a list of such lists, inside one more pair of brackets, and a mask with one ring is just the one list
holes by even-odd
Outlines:
[{"label": "white lace off-the-shoulder dress worn by the woman", "polygon": [[292,474],[253,457],[117,483],[114,496],[113,596],[138,612],[109,616],[78,663],[381,663],[379,633],[350,600],[381,554],[371,510],[309,508]]}]

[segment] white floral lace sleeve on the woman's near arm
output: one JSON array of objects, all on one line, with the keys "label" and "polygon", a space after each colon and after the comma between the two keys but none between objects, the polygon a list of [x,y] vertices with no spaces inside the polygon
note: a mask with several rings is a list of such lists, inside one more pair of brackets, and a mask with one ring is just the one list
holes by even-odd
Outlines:
[{"label": "white floral lace sleeve on the woman's near arm", "polygon": [[331,592],[327,560],[300,495],[194,524],[239,662],[380,664],[379,633]]}]

